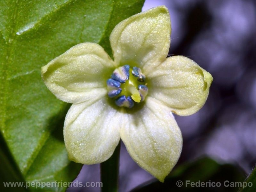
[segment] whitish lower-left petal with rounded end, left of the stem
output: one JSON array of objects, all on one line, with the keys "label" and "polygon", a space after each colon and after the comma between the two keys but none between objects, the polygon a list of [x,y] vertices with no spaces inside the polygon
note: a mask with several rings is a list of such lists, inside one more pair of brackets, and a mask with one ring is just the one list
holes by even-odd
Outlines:
[{"label": "whitish lower-left petal with rounded end, left of the stem", "polygon": [[64,123],[69,159],[82,164],[106,161],[120,140],[121,117],[106,97],[73,104]]}]

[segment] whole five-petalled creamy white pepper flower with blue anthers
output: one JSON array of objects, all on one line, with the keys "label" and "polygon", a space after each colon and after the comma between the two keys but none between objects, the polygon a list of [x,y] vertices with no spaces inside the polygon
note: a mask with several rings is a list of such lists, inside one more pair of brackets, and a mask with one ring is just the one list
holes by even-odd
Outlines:
[{"label": "whole five-petalled creamy white pepper flower with blue anthers", "polygon": [[42,67],[45,85],[72,103],[64,122],[69,159],[106,161],[120,138],[128,153],[160,181],[177,163],[182,135],[172,113],[204,105],[210,73],[183,56],[167,57],[171,21],[165,6],[120,22],[110,35],[112,60],[95,43],[82,43]]}]

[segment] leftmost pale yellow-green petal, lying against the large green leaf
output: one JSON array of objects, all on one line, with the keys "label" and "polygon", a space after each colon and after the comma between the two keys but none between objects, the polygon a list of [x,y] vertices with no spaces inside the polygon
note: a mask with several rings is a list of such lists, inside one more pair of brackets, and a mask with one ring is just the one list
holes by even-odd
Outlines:
[{"label": "leftmost pale yellow-green petal, lying against the large green leaf", "polygon": [[94,43],[82,43],[42,67],[48,89],[60,100],[78,103],[102,95],[114,62]]}]

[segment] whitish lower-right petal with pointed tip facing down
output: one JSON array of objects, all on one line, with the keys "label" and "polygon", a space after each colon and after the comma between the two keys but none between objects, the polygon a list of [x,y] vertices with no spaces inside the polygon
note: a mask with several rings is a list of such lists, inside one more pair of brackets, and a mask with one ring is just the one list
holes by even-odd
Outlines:
[{"label": "whitish lower-right petal with pointed tip facing down", "polygon": [[169,108],[151,97],[145,102],[127,115],[121,139],[133,160],[163,182],[180,157],[182,136]]}]

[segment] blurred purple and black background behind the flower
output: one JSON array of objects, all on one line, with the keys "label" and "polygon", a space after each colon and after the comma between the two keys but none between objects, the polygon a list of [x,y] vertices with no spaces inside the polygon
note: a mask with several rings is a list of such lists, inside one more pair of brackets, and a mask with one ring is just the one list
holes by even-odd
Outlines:
[{"label": "blurred purple and black background behind the flower", "polygon": [[[171,15],[170,56],[187,56],[213,76],[204,107],[191,116],[175,115],[183,135],[177,165],[209,156],[249,174],[256,163],[256,1],[146,0],[142,11],[158,5]],[[125,192],[153,179],[123,143],[119,179]],[[84,165],[76,180],[100,182],[100,165]]]}]

